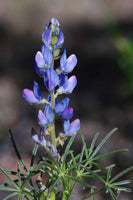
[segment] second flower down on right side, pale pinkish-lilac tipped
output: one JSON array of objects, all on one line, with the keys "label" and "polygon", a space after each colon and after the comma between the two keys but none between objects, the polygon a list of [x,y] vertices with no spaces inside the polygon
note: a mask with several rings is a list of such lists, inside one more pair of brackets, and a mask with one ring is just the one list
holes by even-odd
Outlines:
[{"label": "second flower down on right side, pale pinkish-lilac tipped", "polygon": [[77,78],[76,78],[76,76],[71,76],[69,79],[67,79],[67,76],[65,76],[63,78],[63,81],[64,81],[64,84],[59,87],[59,89],[57,90],[57,92],[59,94],[63,94],[63,93],[70,94],[70,93],[72,93],[73,89],[77,85]]}]

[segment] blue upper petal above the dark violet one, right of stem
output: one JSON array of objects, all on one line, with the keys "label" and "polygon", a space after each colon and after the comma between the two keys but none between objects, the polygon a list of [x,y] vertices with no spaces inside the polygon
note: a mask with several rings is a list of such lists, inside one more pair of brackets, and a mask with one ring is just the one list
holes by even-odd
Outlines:
[{"label": "blue upper petal above the dark violet one, right of stem", "polygon": [[63,99],[62,102],[56,103],[55,112],[58,114],[62,114],[64,112],[64,110],[66,108],[68,108],[69,100],[70,99],[68,97],[66,97],[65,99]]}]

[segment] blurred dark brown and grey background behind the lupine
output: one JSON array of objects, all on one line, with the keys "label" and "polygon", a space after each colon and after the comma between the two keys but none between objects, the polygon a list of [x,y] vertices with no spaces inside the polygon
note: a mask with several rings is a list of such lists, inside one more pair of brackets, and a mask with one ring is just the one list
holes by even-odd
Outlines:
[{"label": "blurred dark brown and grey background behind the lupine", "polygon": [[[61,24],[67,55],[75,53],[78,58],[73,71],[78,85],[70,95],[70,105],[74,118],[81,120],[80,132],[89,146],[96,132],[101,132],[100,141],[118,127],[102,152],[128,148],[129,153],[108,158],[105,165],[115,162],[116,171],[133,165],[133,1],[0,0],[0,167],[16,169],[9,128],[29,164],[34,145],[30,131],[31,127],[39,129],[39,107],[25,102],[22,91],[32,89],[36,80],[47,95],[34,71],[34,57],[42,45],[44,26],[52,17]],[[77,136],[77,152],[79,144]],[[133,179],[133,173],[126,178]],[[1,175],[0,183],[3,180]],[[130,186],[133,188],[133,182]],[[84,194],[88,191],[77,186],[73,200]],[[103,199],[109,197],[96,197]],[[120,199],[132,200],[133,195],[121,193]]]}]

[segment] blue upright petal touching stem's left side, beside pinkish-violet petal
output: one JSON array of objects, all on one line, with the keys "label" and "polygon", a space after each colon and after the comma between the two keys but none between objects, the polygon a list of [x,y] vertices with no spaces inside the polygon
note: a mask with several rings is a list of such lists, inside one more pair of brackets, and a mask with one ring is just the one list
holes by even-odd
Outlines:
[{"label": "blue upright petal touching stem's left side, beside pinkish-violet petal", "polygon": [[54,120],[54,111],[50,107],[49,104],[46,104],[45,109],[44,109],[44,114],[47,118],[48,123],[52,122]]}]

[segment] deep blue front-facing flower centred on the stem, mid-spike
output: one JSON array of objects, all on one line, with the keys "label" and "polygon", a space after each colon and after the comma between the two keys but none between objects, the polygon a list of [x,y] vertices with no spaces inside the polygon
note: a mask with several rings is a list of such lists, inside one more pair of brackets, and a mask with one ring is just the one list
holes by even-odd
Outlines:
[{"label": "deep blue front-facing flower centred on the stem, mid-spike", "polygon": [[59,84],[59,76],[52,68],[45,71],[44,84],[50,92]]}]

